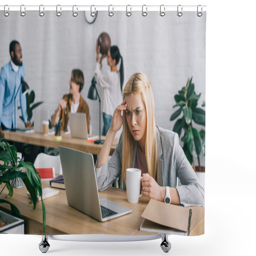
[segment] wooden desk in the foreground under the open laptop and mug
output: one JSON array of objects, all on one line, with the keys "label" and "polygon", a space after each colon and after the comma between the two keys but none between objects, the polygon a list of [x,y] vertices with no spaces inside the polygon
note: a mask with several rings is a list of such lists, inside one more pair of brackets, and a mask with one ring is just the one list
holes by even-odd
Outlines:
[{"label": "wooden desk in the foreground under the open laptop and mug", "polygon": [[[49,181],[43,181],[42,186],[49,187]],[[0,186],[2,190],[3,185]],[[100,196],[122,204],[132,209],[131,213],[116,219],[99,222],[88,215],[79,212],[72,208],[67,203],[65,190],[59,189],[60,193],[44,200],[46,210],[46,235],[63,235],[63,234],[110,234],[110,235],[156,235],[140,231],[140,225],[143,221],[141,217],[142,212],[147,206],[149,199],[141,196],[139,203],[128,203],[126,191],[118,188],[108,188],[105,191],[99,192]],[[26,195],[27,189],[22,188],[13,189],[13,197],[8,199],[20,210],[24,220],[26,220],[27,234],[43,234],[42,224],[42,204],[39,201],[36,209],[33,210],[33,205]],[[2,192],[1,198],[8,194],[5,188]],[[7,204],[1,204],[1,209],[10,212],[10,207]],[[204,220],[202,220],[197,227],[190,229],[190,236],[204,234]]]}]

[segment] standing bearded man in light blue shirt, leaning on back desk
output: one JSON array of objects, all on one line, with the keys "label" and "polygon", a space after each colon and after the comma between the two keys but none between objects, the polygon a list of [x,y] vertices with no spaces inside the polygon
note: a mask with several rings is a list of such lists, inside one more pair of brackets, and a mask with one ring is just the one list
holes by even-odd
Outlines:
[{"label": "standing bearded man in light blue shirt, leaning on back desk", "polygon": [[22,95],[20,86],[21,77],[25,76],[25,67],[19,42],[13,40],[10,43],[10,55],[11,61],[1,68],[0,74],[0,130],[16,128],[19,98],[23,121],[26,127],[30,126],[27,123],[26,95]]}]

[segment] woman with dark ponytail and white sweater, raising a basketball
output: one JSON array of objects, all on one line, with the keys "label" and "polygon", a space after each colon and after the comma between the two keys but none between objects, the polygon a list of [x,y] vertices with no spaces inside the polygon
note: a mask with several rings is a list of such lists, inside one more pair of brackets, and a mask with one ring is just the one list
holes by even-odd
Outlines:
[{"label": "woman with dark ponytail and white sweater, raising a basketball", "polygon": [[[108,66],[110,71],[103,73],[101,70],[102,60],[107,58]],[[119,71],[117,70],[117,64],[120,63]],[[119,105],[122,99],[122,89],[124,83],[124,66],[123,58],[120,55],[117,46],[111,46],[108,53],[104,53],[100,57],[100,45],[98,40],[96,43],[96,68],[94,77],[103,88],[103,99],[102,99],[102,112],[103,112],[103,131],[102,135],[107,135],[108,129],[112,121],[112,115]]]}]

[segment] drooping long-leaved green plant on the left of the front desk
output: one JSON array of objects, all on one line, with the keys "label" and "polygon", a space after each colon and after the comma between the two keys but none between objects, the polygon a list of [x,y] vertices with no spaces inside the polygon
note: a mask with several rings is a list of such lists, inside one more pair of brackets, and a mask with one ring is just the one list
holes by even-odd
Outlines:
[{"label": "drooping long-leaved green plant on the left of the front desk", "polygon": [[[0,185],[2,183],[5,183],[5,185],[0,192],[0,195],[3,192],[4,188],[6,187],[8,188],[8,191],[9,191],[9,194],[6,197],[7,198],[12,197],[13,188],[11,185],[11,180],[15,178],[21,178],[26,188],[28,189],[28,192],[31,195],[32,202],[35,209],[36,203],[37,203],[37,191],[39,195],[42,197],[41,178],[33,164],[20,160],[20,163],[17,166],[17,159],[18,159],[17,149],[14,146],[10,146],[10,144],[5,139],[1,138],[0,139],[0,160],[1,160]],[[26,172],[23,172],[21,167],[23,167],[26,170]],[[10,204],[12,214],[19,218],[22,218],[20,211],[15,205],[10,203],[8,200],[0,199],[0,204],[3,204],[3,203]],[[43,200],[42,200],[42,211],[43,211],[43,229],[45,231],[46,219],[45,219],[45,207],[44,207]]]}]

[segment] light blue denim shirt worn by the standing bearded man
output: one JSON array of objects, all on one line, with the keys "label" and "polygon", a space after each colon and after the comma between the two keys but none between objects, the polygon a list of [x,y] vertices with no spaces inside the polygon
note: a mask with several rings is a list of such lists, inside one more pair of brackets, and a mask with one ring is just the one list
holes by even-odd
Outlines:
[{"label": "light blue denim shirt worn by the standing bearded man", "polygon": [[[3,123],[6,128],[11,129],[12,123],[13,128],[15,128],[18,121],[18,100],[20,98],[20,107],[24,123],[28,122],[27,118],[27,100],[26,95],[22,95],[20,81],[21,76],[25,76],[25,67],[24,64],[19,67],[18,71],[15,72],[12,68],[11,61],[5,64],[1,68],[0,74],[0,124]],[[18,91],[19,90],[19,91]],[[16,93],[16,102],[14,111],[14,97]],[[16,116],[14,117],[14,113]]]}]

